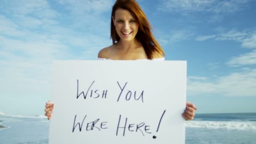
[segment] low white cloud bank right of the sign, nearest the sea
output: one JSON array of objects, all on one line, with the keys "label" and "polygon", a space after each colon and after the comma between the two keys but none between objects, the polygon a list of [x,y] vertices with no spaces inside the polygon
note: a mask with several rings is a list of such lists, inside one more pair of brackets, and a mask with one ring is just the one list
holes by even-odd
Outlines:
[{"label": "low white cloud bank right of the sign, nearest the sea", "polygon": [[256,96],[256,69],[246,69],[223,77],[188,79],[188,95]]}]

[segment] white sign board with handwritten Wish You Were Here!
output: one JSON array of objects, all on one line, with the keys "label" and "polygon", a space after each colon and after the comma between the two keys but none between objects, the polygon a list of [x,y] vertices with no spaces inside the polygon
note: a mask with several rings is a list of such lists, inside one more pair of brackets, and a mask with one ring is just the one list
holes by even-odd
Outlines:
[{"label": "white sign board with handwritten Wish You Were Here!", "polygon": [[184,144],[186,61],[55,61],[49,144]]}]

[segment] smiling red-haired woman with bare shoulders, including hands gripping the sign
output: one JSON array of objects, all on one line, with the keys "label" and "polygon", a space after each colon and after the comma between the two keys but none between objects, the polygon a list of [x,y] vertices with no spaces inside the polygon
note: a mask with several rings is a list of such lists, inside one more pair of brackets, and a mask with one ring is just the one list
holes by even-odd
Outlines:
[{"label": "smiling red-haired woman with bare shoulders, including hands gripping the sign", "polygon": [[[111,38],[113,45],[99,51],[99,59],[164,60],[165,53],[152,35],[151,27],[135,0],[117,0],[112,8]],[[45,116],[51,119],[53,104],[45,105]],[[197,108],[187,102],[182,116],[192,120]]]}]

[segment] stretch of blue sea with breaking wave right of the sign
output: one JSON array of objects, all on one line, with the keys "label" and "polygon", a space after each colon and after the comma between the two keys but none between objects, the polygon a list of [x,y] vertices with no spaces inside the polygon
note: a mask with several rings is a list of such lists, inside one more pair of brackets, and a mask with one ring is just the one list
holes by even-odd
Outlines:
[{"label": "stretch of blue sea with breaking wave right of the sign", "polygon": [[256,144],[256,113],[197,114],[186,123],[186,144]]}]

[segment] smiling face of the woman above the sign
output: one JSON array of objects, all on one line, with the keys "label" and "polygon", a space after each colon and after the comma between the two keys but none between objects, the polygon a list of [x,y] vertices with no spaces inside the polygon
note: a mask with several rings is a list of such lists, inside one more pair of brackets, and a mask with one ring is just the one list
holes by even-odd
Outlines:
[{"label": "smiling face of the woman above the sign", "polygon": [[112,20],[121,40],[134,40],[139,24],[129,11],[121,8],[117,9],[115,11],[115,18],[112,17]]}]

